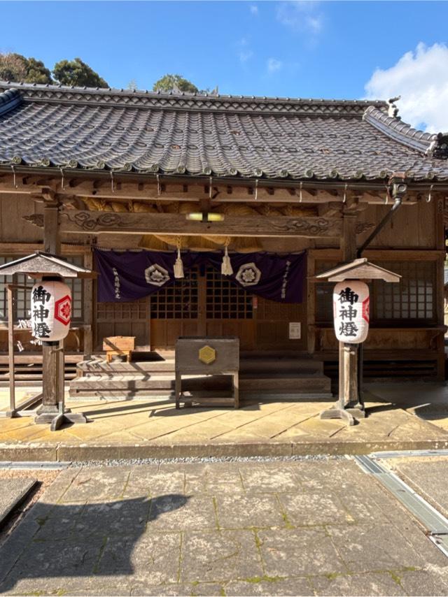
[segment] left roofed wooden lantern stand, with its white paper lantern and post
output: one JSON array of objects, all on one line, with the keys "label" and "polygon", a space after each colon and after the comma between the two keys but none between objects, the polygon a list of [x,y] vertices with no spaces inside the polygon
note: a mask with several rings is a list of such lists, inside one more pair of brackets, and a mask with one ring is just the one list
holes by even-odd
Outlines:
[{"label": "left roofed wooden lantern stand, with its white paper lantern and post", "polygon": [[[86,423],[83,413],[64,408],[64,338],[71,322],[71,291],[63,280],[94,278],[96,274],[44,252],[0,266],[0,275],[15,273],[36,279],[31,289],[31,333],[42,343],[43,387],[42,405],[36,411],[34,422],[50,423],[52,431],[64,422]],[[12,317],[12,309],[9,317]],[[14,375],[14,371],[10,371],[10,375]]]}]

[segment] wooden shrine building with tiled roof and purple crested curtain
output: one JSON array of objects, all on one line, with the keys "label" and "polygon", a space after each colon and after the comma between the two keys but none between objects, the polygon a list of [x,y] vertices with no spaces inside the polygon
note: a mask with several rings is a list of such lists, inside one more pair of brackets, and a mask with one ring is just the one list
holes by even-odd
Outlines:
[{"label": "wooden shrine building with tiled roof and purple crested curtain", "polygon": [[[328,395],[335,284],[317,276],[360,258],[400,275],[369,281],[365,379],[444,380],[447,159],[448,134],[412,129],[392,101],[0,82],[0,264],[41,251],[98,273],[66,280],[72,396],[169,394],[182,336],[239,338],[241,398]],[[0,278],[0,381],[14,281],[29,384],[34,282],[14,278]],[[105,360],[117,336],[128,363]]]}]

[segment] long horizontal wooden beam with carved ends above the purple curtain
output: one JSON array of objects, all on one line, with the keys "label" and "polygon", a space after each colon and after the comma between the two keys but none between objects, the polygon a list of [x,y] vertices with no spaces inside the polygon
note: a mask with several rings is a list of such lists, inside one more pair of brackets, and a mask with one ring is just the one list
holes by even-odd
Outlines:
[{"label": "long horizontal wooden beam with carved ends above the purple curtain", "polygon": [[[34,214],[25,220],[36,225],[42,223]],[[183,214],[69,210],[59,214],[59,233],[318,238],[341,236],[342,221],[324,217],[225,215],[222,222],[193,222]]]}]

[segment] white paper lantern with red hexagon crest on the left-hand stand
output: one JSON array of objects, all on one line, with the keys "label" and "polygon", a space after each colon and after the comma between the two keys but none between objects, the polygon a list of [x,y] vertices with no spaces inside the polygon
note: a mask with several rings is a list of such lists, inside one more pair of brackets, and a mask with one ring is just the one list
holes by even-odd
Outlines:
[{"label": "white paper lantern with red hexagon crest on the left-hand stand", "polygon": [[31,333],[44,344],[69,333],[71,292],[60,280],[42,280],[31,289]]}]

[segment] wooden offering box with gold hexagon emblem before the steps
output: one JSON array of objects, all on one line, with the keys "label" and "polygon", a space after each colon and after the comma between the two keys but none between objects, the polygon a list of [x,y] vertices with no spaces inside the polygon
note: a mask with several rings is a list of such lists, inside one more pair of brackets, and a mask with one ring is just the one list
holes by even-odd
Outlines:
[{"label": "wooden offering box with gold hexagon emblem before the steps", "polygon": [[[182,336],[176,341],[176,408],[179,403],[239,408],[239,338]],[[183,396],[182,375],[232,375],[233,396]]]}]

